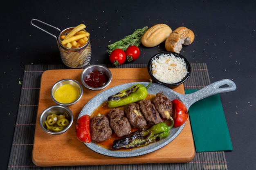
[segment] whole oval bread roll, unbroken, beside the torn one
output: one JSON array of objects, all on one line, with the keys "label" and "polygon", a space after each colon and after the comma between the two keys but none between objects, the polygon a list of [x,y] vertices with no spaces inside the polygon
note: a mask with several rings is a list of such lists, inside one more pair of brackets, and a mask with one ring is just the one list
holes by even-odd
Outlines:
[{"label": "whole oval bread roll, unbroken, beside the torn one", "polygon": [[172,32],[172,29],[168,25],[156,24],[144,33],[141,43],[146,47],[157,46],[164,42]]}]

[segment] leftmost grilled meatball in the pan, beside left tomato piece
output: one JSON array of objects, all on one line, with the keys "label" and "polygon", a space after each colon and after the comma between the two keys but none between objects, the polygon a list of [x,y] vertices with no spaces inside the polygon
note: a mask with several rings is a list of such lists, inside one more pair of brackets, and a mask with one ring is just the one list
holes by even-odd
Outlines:
[{"label": "leftmost grilled meatball in the pan, beside left tomato piece", "polygon": [[112,129],[109,126],[108,118],[105,115],[92,117],[91,138],[94,141],[106,141],[112,135]]}]

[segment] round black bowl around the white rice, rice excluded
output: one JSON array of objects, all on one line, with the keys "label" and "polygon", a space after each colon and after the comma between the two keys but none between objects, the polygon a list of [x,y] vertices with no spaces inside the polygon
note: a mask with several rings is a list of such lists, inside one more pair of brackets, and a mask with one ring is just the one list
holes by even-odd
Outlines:
[{"label": "round black bowl around the white rice, rice excluded", "polygon": [[[159,81],[158,79],[155,78],[155,76],[152,73],[152,69],[151,69],[152,68],[152,62],[153,62],[153,59],[159,58],[162,54],[168,54],[168,55],[173,54],[175,57],[180,57],[180,58],[184,59],[184,62],[186,63],[186,69],[187,69],[188,73],[186,74],[186,76],[181,81],[173,83],[173,84],[168,84],[168,83],[165,83],[165,82],[161,82],[161,81]],[[189,61],[186,60],[186,58],[183,57],[182,55],[180,55],[179,53],[175,53],[175,52],[171,52],[171,51],[163,51],[161,53],[155,54],[153,57],[150,58],[150,60],[148,62],[148,73],[149,73],[150,77],[153,79],[154,82],[156,82],[158,84],[162,84],[162,85],[170,87],[170,88],[175,88],[175,87],[179,86],[180,84],[184,83],[189,78],[190,73],[191,73],[191,67],[190,67]]]}]

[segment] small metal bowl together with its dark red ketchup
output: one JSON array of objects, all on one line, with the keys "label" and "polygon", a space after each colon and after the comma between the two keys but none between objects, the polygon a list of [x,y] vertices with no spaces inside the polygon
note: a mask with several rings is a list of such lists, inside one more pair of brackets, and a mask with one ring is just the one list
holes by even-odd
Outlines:
[{"label": "small metal bowl together with its dark red ketchup", "polygon": [[83,85],[93,91],[100,91],[106,88],[112,80],[111,71],[101,65],[90,65],[81,73]]}]

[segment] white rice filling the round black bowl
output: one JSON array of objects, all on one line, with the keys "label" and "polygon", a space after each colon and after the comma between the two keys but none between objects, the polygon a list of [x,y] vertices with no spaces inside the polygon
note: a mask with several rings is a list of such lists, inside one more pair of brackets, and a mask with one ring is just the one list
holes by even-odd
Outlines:
[{"label": "white rice filling the round black bowl", "polygon": [[152,73],[159,81],[173,84],[180,82],[188,72],[183,58],[162,54],[153,59]]}]

